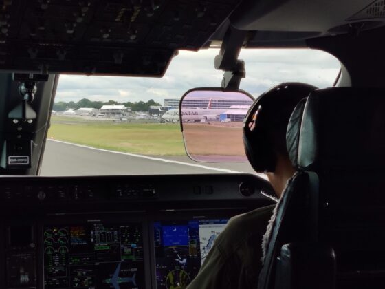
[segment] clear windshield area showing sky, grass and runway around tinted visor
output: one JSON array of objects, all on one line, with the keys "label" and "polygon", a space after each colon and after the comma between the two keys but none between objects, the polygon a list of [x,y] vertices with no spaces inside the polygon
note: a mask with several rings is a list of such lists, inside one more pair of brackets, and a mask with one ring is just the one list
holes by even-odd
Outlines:
[{"label": "clear windshield area showing sky, grass and runway around tinted visor", "polygon": [[[193,87],[219,87],[219,50],[179,52],[163,78],[62,75],[41,175],[254,173],[248,163],[199,163],[186,156],[180,125],[162,121]],[[329,87],[339,61],[318,50],[242,50],[241,89],[257,98],[278,83]]]}]

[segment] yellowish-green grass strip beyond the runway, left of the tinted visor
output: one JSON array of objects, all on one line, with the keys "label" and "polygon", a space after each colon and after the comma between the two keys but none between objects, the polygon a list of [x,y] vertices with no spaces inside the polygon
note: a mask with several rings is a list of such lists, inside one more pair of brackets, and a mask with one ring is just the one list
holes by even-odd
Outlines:
[{"label": "yellowish-green grass strip beyond the runway, left of the tinted visor", "polygon": [[186,156],[178,124],[123,123],[52,116],[48,138],[113,151]]}]

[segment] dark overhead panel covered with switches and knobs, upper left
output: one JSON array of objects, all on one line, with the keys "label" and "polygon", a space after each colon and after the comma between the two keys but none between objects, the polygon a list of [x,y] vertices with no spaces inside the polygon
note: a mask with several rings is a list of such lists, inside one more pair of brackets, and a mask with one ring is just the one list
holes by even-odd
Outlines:
[{"label": "dark overhead panel covered with switches and knobs, upper left", "polygon": [[162,76],[177,50],[199,50],[239,1],[1,3],[1,70]]}]

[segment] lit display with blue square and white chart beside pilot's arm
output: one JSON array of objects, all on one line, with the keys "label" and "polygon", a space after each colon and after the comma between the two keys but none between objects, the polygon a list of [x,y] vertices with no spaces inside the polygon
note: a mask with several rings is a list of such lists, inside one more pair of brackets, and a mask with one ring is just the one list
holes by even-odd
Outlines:
[{"label": "lit display with blue square and white chart beside pilot's arm", "polygon": [[155,222],[157,289],[186,288],[228,219]]}]

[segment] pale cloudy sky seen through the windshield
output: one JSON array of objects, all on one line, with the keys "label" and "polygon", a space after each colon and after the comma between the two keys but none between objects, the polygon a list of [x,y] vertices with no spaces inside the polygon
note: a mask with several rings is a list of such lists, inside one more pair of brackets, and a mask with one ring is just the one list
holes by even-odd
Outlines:
[{"label": "pale cloudy sky seen through the windshield", "polygon": [[[164,98],[181,98],[194,87],[220,87],[223,71],[214,69],[218,53],[218,49],[180,51],[163,78],[61,75],[55,102],[77,102],[82,98],[119,103],[153,99],[163,105]],[[239,59],[245,61],[246,69],[240,88],[254,97],[286,81],[328,87],[340,69],[335,57],[310,49],[242,50]]]}]

